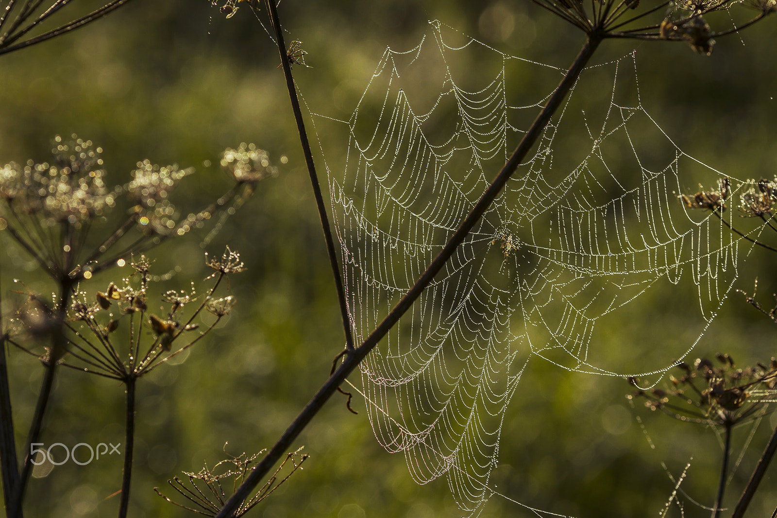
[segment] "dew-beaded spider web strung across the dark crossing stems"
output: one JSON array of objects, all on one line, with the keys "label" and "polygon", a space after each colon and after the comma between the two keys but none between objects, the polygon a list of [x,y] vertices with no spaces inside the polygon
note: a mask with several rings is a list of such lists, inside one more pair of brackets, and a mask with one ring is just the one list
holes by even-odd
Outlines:
[{"label": "dew-beaded spider web strung across the dark crossing stems", "polygon": [[[465,515],[494,494],[510,401],[538,390],[521,385],[530,362],[657,381],[692,351],[751,250],[678,201],[723,173],[650,116],[636,68],[632,53],[584,71],[500,197],[361,363],[378,442],[405,454],[417,482],[445,476]],[[313,114],[357,344],[465,219],[564,72],[432,22],[416,47],[385,50],[350,118]],[[732,178],[732,193],[742,185]],[[682,336],[611,338],[671,304],[689,308]]]}]

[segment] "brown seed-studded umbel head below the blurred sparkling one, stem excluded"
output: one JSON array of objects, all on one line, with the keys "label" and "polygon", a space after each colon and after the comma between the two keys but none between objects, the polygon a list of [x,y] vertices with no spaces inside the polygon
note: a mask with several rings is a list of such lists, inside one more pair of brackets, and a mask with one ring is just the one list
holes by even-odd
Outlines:
[{"label": "brown seed-studded umbel head below the blurred sparkling one, stem excluded", "polygon": [[[167,304],[166,308],[149,311],[148,293],[156,282],[150,273],[152,261],[144,255],[131,266],[131,275],[120,282],[110,282],[104,292],[84,289],[83,285],[88,281],[79,283],[64,322],[55,317],[55,305],[30,296],[17,312],[19,331],[34,337],[40,335],[40,338],[50,338],[52,334],[63,338],[61,353],[55,356],[62,366],[116,380],[129,380],[144,376],[200,341],[234,306],[232,296],[213,298],[219,285],[217,279],[211,282],[200,303],[196,303],[192,283],[189,292],[164,292],[162,301]],[[200,327],[195,320],[204,310],[214,313],[217,318],[209,319],[214,321],[204,331],[192,333]],[[121,325],[121,320],[127,320],[127,323]],[[49,358],[50,348],[45,348],[41,354],[26,348],[15,336],[10,336],[8,341],[44,361]]]}]

